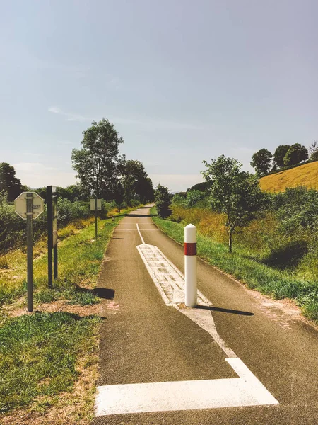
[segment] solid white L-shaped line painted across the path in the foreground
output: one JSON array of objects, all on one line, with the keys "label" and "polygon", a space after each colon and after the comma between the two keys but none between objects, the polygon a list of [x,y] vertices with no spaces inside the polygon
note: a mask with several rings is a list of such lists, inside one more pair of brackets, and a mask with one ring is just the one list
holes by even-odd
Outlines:
[{"label": "solid white L-shaped line painted across the path in the foreground", "polygon": [[96,416],[278,404],[240,358],[226,359],[240,378],[105,385],[98,387]]}]

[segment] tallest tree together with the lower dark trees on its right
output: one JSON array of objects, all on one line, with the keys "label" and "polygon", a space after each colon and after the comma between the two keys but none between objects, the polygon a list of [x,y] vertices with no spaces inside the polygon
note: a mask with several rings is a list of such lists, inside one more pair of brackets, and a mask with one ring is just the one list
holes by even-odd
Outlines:
[{"label": "tallest tree together with the lower dark trees on its right", "polygon": [[153,200],[153,183],[143,164],[119,155],[124,140],[109,120],[93,121],[83,135],[82,149],[73,149],[71,161],[90,196],[113,199],[118,208],[124,200],[127,205],[134,198],[142,203]]}]

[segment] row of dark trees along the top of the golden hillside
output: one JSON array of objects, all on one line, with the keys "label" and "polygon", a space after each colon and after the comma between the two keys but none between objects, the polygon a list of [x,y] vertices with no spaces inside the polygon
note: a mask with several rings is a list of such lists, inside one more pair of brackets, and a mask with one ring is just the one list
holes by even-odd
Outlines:
[{"label": "row of dark trees along the top of the golden hillside", "polygon": [[285,167],[295,166],[307,159],[311,161],[318,159],[318,140],[314,140],[309,149],[300,143],[279,145],[273,154],[269,149],[260,149],[252,155],[251,165],[259,177],[264,177],[270,171],[274,172]]}]

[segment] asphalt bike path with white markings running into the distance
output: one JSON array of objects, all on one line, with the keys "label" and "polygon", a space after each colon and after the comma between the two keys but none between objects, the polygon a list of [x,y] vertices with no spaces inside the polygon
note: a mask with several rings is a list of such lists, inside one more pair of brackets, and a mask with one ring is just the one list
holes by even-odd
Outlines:
[{"label": "asphalt bike path with white markings running into the distance", "polygon": [[94,424],[317,424],[317,330],[204,261],[185,307],[183,271],[149,208],[115,229]]}]

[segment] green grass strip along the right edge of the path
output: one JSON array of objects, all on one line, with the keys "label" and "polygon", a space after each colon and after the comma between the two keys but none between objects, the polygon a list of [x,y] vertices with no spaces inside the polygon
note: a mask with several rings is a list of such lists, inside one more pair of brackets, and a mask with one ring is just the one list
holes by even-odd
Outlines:
[{"label": "green grass strip along the right edge of the path", "polygon": [[[151,209],[155,215],[155,208]],[[184,242],[184,226],[170,220],[163,220],[158,216],[152,217],[153,222],[167,236],[179,244]],[[242,250],[235,250],[232,254],[224,244],[213,242],[212,239],[198,232],[197,253],[212,266],[245,283],[248,288],[259,290],[271,295],[275,299],[291,298],[302,307],[306,317],[318,321],[318,283],[295,278],[287,271],[278,271],[265,266],[258,261],[247,258]]]}]

